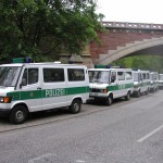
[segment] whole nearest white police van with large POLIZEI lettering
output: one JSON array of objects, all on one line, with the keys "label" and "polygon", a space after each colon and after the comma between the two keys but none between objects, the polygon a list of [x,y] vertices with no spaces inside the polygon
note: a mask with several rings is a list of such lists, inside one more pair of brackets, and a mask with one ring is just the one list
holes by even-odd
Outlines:
[{"label": "whole nearest white police van with large POLIZEI lettering", "polygon": [[[24,60],[15,59],[14,62]],[[78,113],[88,98],[89,78],[85,65],[0,65],[0,115],[8,115],[11,123],[24,123],[30,112],[61,106],[68,106],[72,113]]]}]

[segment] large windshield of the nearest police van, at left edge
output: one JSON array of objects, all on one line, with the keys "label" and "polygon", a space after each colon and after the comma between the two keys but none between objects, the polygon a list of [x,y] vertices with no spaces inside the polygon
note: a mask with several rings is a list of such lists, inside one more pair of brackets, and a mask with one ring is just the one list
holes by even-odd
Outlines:
[{"label": "large windshield of the nearest police van, at left edge", "polygon": [[0,86],[15,87],[21,67],[0,66]]}]

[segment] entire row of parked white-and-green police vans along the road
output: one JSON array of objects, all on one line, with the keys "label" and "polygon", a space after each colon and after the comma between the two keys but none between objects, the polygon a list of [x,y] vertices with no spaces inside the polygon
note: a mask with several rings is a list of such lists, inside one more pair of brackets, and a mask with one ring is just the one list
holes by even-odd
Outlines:
[{"label": "entire row of parked white-and-green police vans along the road", "polygon": [[111,105],[116,98],[130,99],[163,88],[163,74],[142,70],[99,65],[87,70],[79,64],[30,63],[13,59],[0,65],[0,116],[24,123],[32,112],[66,106],[79,113],[82,103],[103,100]]}]

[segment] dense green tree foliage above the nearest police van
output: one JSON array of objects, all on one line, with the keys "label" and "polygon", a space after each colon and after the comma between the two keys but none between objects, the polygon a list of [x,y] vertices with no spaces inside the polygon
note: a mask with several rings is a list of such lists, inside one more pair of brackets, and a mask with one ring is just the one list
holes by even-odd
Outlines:
[{"label": "dense green tree foliage above the nearest police van", "polygon": [[60,53],[79,54],[102,30],[93,2],[80,0],[1,0],[0,61],[32,57],[53,60]]}]

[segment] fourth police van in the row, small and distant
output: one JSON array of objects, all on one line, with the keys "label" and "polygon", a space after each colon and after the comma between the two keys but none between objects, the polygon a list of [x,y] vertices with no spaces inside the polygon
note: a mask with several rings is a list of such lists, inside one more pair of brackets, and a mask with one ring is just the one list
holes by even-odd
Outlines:
[{"label": "fourth police van in the row, small and distant", "polygon": [[159,89],[159,73],[150,72],[150,91],[154,92]]}]

